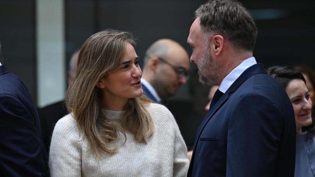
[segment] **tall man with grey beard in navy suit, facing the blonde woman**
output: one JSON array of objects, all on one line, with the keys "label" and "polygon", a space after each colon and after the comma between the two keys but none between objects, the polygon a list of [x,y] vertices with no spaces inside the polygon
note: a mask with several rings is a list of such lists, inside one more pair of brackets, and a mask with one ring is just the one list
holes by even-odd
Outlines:
[{"label": "tall man with grey beard in navy suit, facing the blonde woman", "polygon": [[196,11],[190,61],[200,82],[220,86],[196,133],[188,177],[294,176],[294,111],[284,88],[256,63],[256,36],[237,1],[209,1]]}]

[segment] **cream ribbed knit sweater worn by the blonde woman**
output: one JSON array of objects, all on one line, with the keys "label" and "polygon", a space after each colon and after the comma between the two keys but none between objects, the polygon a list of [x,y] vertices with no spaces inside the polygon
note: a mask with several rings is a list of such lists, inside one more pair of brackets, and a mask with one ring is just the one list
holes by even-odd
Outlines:
[{"label": "cream ribbed knit sweater worn by the blonde woman", "polygon": [[[79,136],[76,120],[68,114],[55,128],[49,153],[51,176],[109,176],[109,177],[170,177],[186,176],[189,161],[187,149],[171,112],[164,106],[151,103],[147,107],[154,132],[146,138],[147,144],[137,143],[132,134],[111,142],[119,146],[116,153],[102,152],[100,159],[87,151],[87,141]],[[103,110],[107,118],[119,123],[122,111]],[[80,141],[81,140],[81,141]]]}]

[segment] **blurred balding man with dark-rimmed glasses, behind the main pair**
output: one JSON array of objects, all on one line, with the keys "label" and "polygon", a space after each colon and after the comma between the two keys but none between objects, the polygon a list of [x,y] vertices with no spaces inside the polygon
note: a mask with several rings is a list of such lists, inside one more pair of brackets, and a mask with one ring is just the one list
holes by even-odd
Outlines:
[{"label": "blurred balding man with dark-rimmed glasses, behind the main pair", "polygon": [[141,78],[143,93],[161,103],[175,94],[189,78],[189,57],[186,50],[171,39],[160,39],[147,50]]}]

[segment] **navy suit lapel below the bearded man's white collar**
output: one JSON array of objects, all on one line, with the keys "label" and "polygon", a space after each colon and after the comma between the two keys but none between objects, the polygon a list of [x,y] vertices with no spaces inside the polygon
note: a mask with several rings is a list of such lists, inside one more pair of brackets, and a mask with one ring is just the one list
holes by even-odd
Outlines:
[{"label": "navy suit lapel below the bearded man's white collar", "polygon": [[[230,94],[235,92],[237,88],[249,77],[255,75],[255,74],[260,74],[260,73],[267,73],[266,70],[264,69],[264,66],[262,64],[255,64],[248,69],[246,69],[236,80],[235,82],[226,90],[226,92],[222,95],[220,100],[215,104],[215,106],[209,111],[207,116],[203,119],[202,123],[200,124],[196,137],[195,137],[195,143],[194,143],[194,148],[193,148],[193,154],[192,154],[192,162],[194,161],[194,154],[196,151],[196,147],[200,138],[200,135],[206,126],[206,124],[210,121],[211,117],[224,105],[224,103],[229,99]],[[191,164],[192,164],[191,162]],[[189,169],[191,172],[192,169]]]}]

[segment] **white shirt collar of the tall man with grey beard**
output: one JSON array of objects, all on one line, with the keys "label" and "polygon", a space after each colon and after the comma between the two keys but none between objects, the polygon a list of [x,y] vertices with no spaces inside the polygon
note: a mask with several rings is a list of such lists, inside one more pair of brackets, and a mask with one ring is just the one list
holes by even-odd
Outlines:
[{"label": "white shirt collar of the tall man with grey beard", "polygon": [[236,81],[236,79],[250,66],[257,64],[255,57],[244,60],[234,68],[221,82],[219,90],[223,93]]}]

